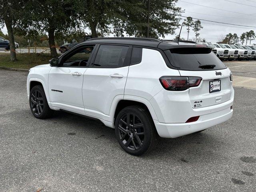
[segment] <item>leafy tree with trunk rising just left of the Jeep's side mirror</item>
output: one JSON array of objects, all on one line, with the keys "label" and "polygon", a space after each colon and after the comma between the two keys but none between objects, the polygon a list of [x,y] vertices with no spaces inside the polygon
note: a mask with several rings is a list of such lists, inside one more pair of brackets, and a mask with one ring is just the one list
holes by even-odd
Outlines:
[{"label": "leafy tree with trunk rising just left of the Jeep's side mirror", "polygon": [[58,57],[55,34],[66,33],[78,26],[77,12],[72,0],[30,0],[26,6],[26,18],[21,20],[21,28],[26,31],[48,33],[52,57]]}]

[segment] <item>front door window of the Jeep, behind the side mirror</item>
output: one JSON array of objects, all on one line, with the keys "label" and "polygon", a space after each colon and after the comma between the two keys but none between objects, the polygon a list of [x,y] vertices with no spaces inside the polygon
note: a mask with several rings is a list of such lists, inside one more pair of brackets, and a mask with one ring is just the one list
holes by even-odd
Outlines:
[{"label": "front door window of the Jeep, behind the side mirror", "polygon": [[84,46],[78,48],[75,52],[64,58],[62,66],[88,66],[88,60],[91,57],[94,46]]}]

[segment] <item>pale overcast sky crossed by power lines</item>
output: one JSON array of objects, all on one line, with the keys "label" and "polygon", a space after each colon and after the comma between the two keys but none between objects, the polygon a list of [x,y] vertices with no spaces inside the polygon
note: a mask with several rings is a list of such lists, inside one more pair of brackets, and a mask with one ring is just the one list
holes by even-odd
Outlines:
[{"label": "pale overcast sky crossed by power lines", "polygon": [[[201,21],[204,28],[199,32],[200,38],[205,38],[207,42],[218,42],[222,34],[226,36],[228,33],[236,33],[240,36],[243,32],[250,30],[256,32],[256,0],[178,0],[176,6],[184,10],[182,16],[185,17],[190,16],[197,19],[244,25],[231,26],[228,24]],[[184,19],[182,18],[180,23]],[[7,33],[5,27],[2,29],[2,32]],[[86,32],[89,32],[89,30],[86,30]],[[174,39],[179,32],[180,30],[177,29],[176,34],[168,34],[164,39]],[[180,36],[185,39],[187,38],[186,27],[182,28]],[[195,33],[191,30],[189,38],[192,39],[194,37]],[[256,40],[253,40],[251,44],[253,43],[256,43]]]}]

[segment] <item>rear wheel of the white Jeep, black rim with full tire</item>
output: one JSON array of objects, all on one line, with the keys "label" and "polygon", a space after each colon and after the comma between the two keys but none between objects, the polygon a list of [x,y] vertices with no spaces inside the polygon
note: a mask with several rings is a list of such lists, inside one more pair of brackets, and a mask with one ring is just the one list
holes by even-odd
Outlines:
[{"label": "rear wheel of the white Jeep, black rim with full tire", "polygon": [[122,149],[135,156],[150,152],[159,138],[150,113],[141,106],[122,109],[115,120],[115,132]]}]

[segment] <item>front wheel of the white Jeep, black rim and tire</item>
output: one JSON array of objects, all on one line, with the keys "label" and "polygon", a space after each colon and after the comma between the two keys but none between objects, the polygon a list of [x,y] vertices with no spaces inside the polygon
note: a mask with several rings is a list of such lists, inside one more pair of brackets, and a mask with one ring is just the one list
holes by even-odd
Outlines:
[{"label": "front wheel of the white Jeep, black rim and tire", "polygon": [[29,106],[32,114],[38,119],[46,119],[53,115],[54,111],[50,109],[44,88],[40,85],[34,86],[29,94]]}]

